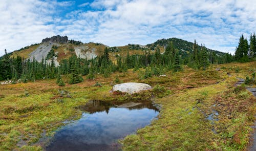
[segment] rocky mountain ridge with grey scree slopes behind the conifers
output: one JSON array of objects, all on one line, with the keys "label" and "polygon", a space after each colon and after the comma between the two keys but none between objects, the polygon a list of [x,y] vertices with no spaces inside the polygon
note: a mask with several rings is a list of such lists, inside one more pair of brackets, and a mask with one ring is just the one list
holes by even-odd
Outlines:
[{"label": "rocky mountain ridge with grey scree slopes behind the conifers", "polygon": [[[34,44],[24,47],[11,53],[11,57],[17,55],[24,58],[35,58],[41,61],[42,57],[47,58],[48,63],[51,62],[49,58],[54,57],[56,66],[62,59],[67,59],[72,55],[80,56],[81,58],[95,58],[102,55],[104,49],[107,47],[110,50],[110,58],[115,61],[116,55],[125,56],[129,50],[129,54],[143,54],[144,51],[154,53],[156,47],[160,48],[161,53],[164,52],[165,47],[172,41],[176,49],[180,50],[183,55],[191,53],[193,50],[193,42],[178,38],[159,39],[152,44],[146,46],[129,44],[121,47],[108,47],[103,44],[89,42],[83,44],[81,41],[69,40],[67,36],[53,36],[50,38],[42,39],[40,44]],[[200,48],[201,46],[199,46]],[[207,49],[208,51],[215,52],[217,55],[222,56],[225,53]]]}]

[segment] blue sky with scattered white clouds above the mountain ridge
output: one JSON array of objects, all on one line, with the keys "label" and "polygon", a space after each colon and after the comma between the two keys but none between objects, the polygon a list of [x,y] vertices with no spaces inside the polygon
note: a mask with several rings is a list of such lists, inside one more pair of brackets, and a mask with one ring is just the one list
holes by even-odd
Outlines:
[{"label": "blue sky with scattered white clouds above the mountain ridge", "polygon": [[108,46],[196,39],[233,54],[256,32],[255,12],[255,0],[1,0],[0,56],[53,35]]}]

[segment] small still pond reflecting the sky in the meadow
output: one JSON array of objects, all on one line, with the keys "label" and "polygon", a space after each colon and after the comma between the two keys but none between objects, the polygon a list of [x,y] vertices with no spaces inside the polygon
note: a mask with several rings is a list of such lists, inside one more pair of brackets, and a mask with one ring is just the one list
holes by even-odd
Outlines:
[{"label": "small still pond reflecting the sky in the meadow", "polygon": [[82,117],[56,132],[46,150],[120,150],[117,140],[151,123],[159,113],[152,101],[79,106]]}]

